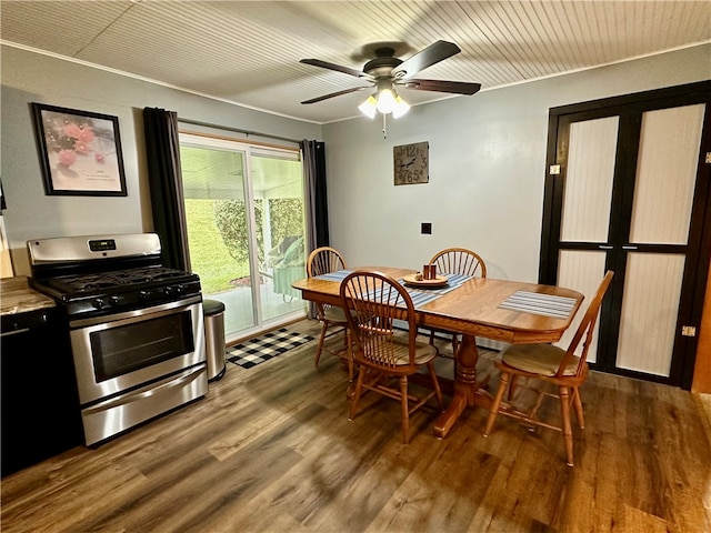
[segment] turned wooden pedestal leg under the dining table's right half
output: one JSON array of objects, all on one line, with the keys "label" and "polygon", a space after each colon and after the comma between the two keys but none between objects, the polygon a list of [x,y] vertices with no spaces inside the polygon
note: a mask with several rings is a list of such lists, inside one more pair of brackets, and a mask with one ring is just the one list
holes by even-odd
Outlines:
[{"label": "turned wooden pedestal leg under the dining table's right half", "polygon": [[447,410],[434,422],[434,435],[438,439],[447,436],[465,408],[479,405],[489,409],[491,405],[491,395],[481,390],[481,382],[477,380],[479,351],[475,336],[463,335],[454,356],[457,359],[454,395]]}]

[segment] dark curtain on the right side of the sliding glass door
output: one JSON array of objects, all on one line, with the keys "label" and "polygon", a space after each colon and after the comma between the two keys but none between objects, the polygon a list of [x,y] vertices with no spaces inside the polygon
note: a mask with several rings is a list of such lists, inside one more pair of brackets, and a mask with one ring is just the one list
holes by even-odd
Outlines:
[{"label": "dark curtain on the right side of the sliding glass door", "polygon": [[329,245],[329,205],[326,191],[326,143],[301,141],[307,190],[307,231],[309,252]]}]

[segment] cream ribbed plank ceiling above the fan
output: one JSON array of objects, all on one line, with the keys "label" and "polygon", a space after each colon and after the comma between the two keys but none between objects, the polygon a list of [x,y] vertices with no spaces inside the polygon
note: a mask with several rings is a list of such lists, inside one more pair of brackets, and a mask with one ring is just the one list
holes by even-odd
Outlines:
[{"label": "cream ribbed plank ceiling above the fan", "polygon": [[[321,123],[358,115],[367,91],[302,100],[368,83],[299,60],[360,70],[375,42],[399,43],[402,59],[455,42],[462,53],[422,77],[482,90],[711,42],[711,2],[687,0],[3,0],[0,20],[4,44]],[[411,104],[475,98],[402,95]]]}]

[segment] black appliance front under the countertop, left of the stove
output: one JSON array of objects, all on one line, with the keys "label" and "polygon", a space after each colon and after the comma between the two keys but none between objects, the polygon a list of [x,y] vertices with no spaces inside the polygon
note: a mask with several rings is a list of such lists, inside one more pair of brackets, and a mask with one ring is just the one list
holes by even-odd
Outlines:
[{"label": "black appliance front under the countertop, left of the stove", "polygon": [[82,444],[69,330],[54,308],[3,314],[1,475]]}]

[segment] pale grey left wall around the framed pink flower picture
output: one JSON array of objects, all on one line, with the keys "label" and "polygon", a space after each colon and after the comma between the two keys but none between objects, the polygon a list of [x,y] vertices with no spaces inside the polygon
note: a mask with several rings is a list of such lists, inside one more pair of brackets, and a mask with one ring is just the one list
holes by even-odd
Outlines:
[{"label": "pale grey left wall around the framed pink flower picture", "polygon": [[[29,274],[26,251],[29,239],[152,231],[142,120],[146,107],[177,111],[179,119],[289,139],[321,138],[318,124],[261,113],[12,47],[3,46],[1,54],[0,178],[8,203],[3,220],[16,275]],[[128,197],[46,195],[30,102],[118,117]]]}]

